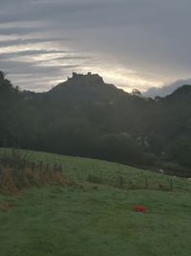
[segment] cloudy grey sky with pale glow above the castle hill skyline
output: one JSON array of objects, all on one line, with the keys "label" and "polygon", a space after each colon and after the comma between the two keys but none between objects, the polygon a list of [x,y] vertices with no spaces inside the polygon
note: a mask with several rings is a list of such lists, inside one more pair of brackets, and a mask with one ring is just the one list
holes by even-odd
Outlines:
[{"label": "cloudy grey sky with pale glow above the castle hill skyline", "polygon": [[145,91],[191,78],[190,0],[0,0],[0,70],[47,91],[72,72]]}]

